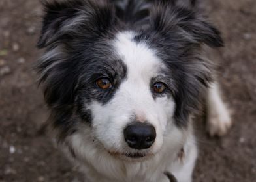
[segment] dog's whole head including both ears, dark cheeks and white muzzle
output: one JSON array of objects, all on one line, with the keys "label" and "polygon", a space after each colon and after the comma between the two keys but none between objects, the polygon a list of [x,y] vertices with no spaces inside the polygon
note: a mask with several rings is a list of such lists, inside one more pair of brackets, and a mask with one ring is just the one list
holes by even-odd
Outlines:
[{"label": "dog's whole head including both ears, dark cheeks and white muzzle", "polygon": [[37,68],[59,140],[86,127],[89,142],[124,158],[154,155],[167,139],[181,144],[211,79],[200,44],[220,46],[216,29],[169,5],[157,5],[141,30],[103,1],[45,6]]}]

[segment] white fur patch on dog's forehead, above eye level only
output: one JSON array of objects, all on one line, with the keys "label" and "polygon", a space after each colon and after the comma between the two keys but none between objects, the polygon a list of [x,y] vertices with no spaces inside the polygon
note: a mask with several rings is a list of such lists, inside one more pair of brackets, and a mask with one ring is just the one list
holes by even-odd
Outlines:
[{"label": "white fur patch on dog's forehead, above eye level only", "polygon": [[135,32],[119,32],[114,39],[114,49],[127,66],[128,77],[155,77],[164,68],[157,52],[146,42],[136,42]]}]

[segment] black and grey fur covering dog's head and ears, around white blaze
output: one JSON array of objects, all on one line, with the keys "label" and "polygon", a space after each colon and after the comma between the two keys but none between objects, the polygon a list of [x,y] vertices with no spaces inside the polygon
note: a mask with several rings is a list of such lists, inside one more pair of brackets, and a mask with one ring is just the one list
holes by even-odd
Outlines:
[{"label": "black and grey fur covering dog's head and ears, around white blaze", "polygon": [[[44,10],[38,47],[54,51],[39,60],[37,70],[59,140],[81,123],[91,123],[86,103],[96,99],[104,104],[114,96],[127,68],[110,41],[117,32],[131,29],[137,32],[134,41],[157,49],[167,65],[163,72],[176,102],[174,117],[177,125],[187,125],[212,81],[210,63],[200,57],[200,48],[223,45],[219,31],[198,12],[174,0],[53,1],[44,3]],[[116,88],[102,92],[94,84],[99,77],[110,78]]]}]

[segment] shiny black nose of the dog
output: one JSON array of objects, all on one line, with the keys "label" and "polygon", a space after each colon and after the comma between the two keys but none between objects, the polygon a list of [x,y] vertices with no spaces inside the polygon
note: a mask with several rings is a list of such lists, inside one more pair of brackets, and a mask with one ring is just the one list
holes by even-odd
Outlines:
[{"label": "shiny black nose of the dog", "polygon": [[124,130],[125,142],[130,148],[146,149],[155,142],[155,127],[147,123],[136,122]]}]

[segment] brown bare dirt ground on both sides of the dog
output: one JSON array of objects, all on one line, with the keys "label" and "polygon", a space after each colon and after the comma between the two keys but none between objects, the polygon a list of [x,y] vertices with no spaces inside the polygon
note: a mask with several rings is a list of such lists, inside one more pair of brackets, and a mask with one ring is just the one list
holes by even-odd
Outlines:
[{"label": "brown bare dirt ground on both sides of the dog", "polygon": [[[256,1],[207,0],[225,48],[216,61],[234,125],[223,138],[207,136],[195,121],[200,155],[195,181],[256,181]],[[40,132],[47,118],[31,65],[41,6],[37,0],[0,0],[0,181],[78,181],[75,169]]]}]

